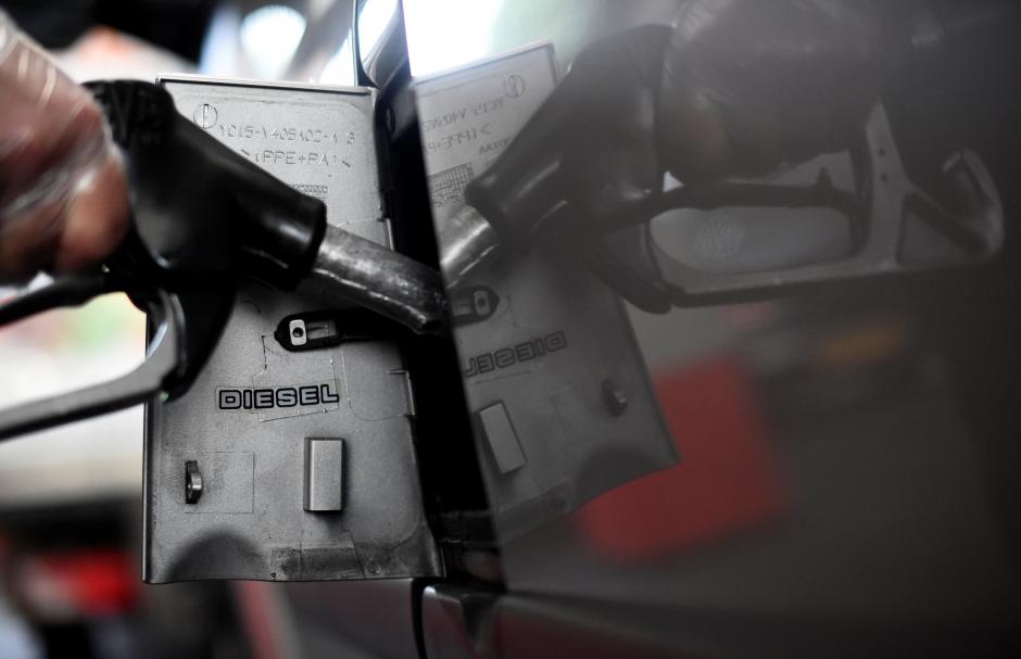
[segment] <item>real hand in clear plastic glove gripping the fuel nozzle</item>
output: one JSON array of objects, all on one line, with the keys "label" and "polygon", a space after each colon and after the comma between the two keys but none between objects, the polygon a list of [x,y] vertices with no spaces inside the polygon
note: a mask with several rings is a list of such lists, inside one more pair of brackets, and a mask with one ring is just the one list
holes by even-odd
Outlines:
[{"label": "real hand in clear plastic glove gripping the fuel nozzle", "polygon": [[106,256],[128,197],[102,112],[0,11],[0,281]]}]

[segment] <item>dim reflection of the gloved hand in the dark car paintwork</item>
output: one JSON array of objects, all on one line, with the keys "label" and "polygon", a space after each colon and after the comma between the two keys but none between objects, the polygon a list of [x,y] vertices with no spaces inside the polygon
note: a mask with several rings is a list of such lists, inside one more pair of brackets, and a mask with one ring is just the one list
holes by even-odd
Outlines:
[{"label": "dim reflection of the gloved hand in the dark car paintwork", "polygon": [[844,150],[884,59],[871,3],[691,0],[664,61],[664,164],[681,180],[711,180]]}]

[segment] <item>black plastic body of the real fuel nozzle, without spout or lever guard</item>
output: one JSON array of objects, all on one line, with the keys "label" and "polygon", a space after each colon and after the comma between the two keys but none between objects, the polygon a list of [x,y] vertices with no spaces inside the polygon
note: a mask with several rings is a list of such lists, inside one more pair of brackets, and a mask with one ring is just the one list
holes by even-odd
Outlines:
[{"label": "black plastic body of the real fuel nozzle, without spout or lever guard", "polygon": [[291,289],[312,269],[326,207],[283,185],[182,117],[161,87],[89,84],[124,155],[131,195],[117,258],[175,288],[244,275]]}]

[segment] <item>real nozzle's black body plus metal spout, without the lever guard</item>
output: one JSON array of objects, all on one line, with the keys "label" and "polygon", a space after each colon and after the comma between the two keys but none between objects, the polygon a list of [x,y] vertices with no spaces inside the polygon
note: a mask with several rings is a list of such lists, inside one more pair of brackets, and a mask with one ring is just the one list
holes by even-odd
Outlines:
[{"label": "real nozzle's black body plus metal spout, without the lever guard", "polygon": [[241,277],[291,290],[306,278],[330,295],[416,332],[440,331],[439,274],[328,227],[325,204],[283,183],[181,116],[148,83],[92,83],[121,147],[133,229],[116,269],[171,290],[232,288]]}]

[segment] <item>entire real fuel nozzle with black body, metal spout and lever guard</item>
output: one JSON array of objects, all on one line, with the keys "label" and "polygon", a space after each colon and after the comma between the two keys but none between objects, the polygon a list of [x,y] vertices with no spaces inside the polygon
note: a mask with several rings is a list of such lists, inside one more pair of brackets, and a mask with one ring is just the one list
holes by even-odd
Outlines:
[{"label": "entire real fuel nozzle with black body, metal spout and lever guard", "polygon": [[150,400],[191,385],[216,346],[242,278],[291,290],[305,279],[416,332],[440,332],[439,273],[336,227],[326,206],[274,178],[177,113],[162,88],[94,83],[123,153],[131,221],[102,268],[0,306],[0,326],[123,291],[150,324],[146,362],[131,373],[7,409],[0,440]]}]

